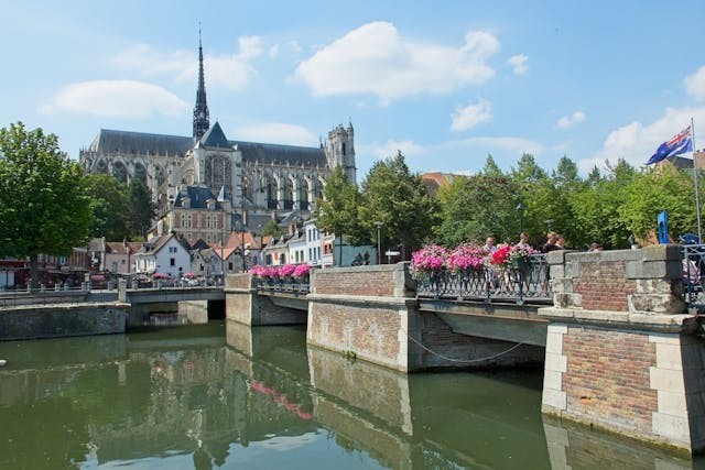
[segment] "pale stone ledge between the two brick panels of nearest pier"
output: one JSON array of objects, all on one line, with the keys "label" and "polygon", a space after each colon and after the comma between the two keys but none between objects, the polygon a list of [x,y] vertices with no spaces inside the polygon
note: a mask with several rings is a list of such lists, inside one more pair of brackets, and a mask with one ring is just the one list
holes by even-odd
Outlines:
[{"label": "pale stone ledge between the two brick panels of nearest pier", "polygon": [[556,323],[659,332],[693,334],[699,329],[696,315],[630,314],[614,310],[545,307],[539,308],[539,316]]}]

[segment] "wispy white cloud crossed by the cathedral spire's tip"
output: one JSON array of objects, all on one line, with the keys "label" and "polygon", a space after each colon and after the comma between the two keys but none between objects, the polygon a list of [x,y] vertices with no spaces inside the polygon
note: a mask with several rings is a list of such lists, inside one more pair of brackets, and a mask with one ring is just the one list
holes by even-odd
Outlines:
[{"label": "wispy white cloud crossed by the cathedral spire's tip", "polygon": [[[206,89],[221,86],[242,89],[256,75],[251,61],[263,53],[259,36],[238,39],[238,52],[234,54],[204,54]],[[139,44],[112,56],[108,63],[130,74],[147,77],[166,76],[180,83],[195,83],[198,76],[196,51],[160,52]]]}]

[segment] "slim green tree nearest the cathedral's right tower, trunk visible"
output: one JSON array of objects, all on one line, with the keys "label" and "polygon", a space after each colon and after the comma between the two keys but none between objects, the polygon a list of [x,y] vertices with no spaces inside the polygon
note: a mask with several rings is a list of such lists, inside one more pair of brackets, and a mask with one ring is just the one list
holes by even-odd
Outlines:
[{"label": "slim green tree nearest the cathedral's right tower, trunk visible", "polygon": [[339,266],[343,265],[343,236],[359,237],[359,203],[357,186],[348,182],[340,166],[336,166],[323,189],[323,199],[317,204],[321,215],[316,219],[316,226],[340,239]]}]

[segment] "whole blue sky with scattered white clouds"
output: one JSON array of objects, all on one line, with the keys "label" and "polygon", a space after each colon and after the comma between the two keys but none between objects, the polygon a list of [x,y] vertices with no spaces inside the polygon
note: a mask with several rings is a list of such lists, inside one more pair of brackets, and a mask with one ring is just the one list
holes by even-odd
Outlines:
[{"label": "whole blue sky with scattered white clouds", "polygon": [[355,128],[358,182],[503,171],[522,153],[583,174],[641,167],[694,121],[705,147],[705,2],[3,0],[0,127],[191,135],[198,31],[212,125],[318,145]]}]

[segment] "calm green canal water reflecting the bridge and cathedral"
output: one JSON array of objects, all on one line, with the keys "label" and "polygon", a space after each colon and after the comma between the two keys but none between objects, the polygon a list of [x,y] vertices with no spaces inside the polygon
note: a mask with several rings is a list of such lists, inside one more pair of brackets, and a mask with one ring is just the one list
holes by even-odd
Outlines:
[{"label": "calm green canal water reflecting the bridge and cathedral", "polygon": [[542,371],[410,376],[218,321],[0,343],[0,468],[684,469],[544,420]]}]

